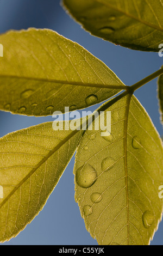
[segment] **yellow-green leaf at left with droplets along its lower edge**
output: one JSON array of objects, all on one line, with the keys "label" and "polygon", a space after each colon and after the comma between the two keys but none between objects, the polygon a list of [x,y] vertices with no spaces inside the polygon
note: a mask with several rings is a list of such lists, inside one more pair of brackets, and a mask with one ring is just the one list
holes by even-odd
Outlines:
[{"label": "yellow-green leaf at left with droplets along its lower edge", "polygon": [[125,87],[101,60],[49,29],[10,31],[0,42],[2,110],[50,115],[94,105]]}]

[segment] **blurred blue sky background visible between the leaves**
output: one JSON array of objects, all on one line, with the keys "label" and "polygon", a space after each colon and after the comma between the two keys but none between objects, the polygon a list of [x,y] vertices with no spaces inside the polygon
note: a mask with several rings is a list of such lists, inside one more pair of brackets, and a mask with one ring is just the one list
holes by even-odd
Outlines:
[{"label": "blurred blue sky background visible between the leaves", "polygon": [[[60,0],[0,0],[0,33],[9,29],[29,27],[50,28],[78,42],[108,65],[126,85],[140,81],[163,64],[163,58],[160,58],[158,53],[132,51],[85,32],[61,8]],[[135,96],[146,108],[156,129],[162,135],[156,81],[153,80],[137,90]],[[97,106],[91,107],[90,110],[96,109]],[[23,117],[1,111],[0,120],[0,137],[45,121],[53,121],[52,117]],[[39,216],[15,239],[3,245],[97,245],[97,241],[86,231],[84,220],[74,201],[73,164],[74,157]],[[152,245],[163,245],[162,234],[163,222],[154,236]]]}]

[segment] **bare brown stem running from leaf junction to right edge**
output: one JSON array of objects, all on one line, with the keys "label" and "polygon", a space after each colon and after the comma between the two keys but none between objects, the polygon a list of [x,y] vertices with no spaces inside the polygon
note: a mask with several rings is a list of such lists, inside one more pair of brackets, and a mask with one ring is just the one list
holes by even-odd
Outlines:
[{"label": "bare brown stem running from leaf junction to right edge", "polygon": [[140,87],[144,86],[146,83],[152,81],[156,77],[160,76],[163,74],[163,68],[159,69],[158,71],[154,72],[152,75],[147,76],[143,80],[133,84],[133,86],[130,86],[129,91],[130,92],[135,92],[135,90],[139,89]]}]

